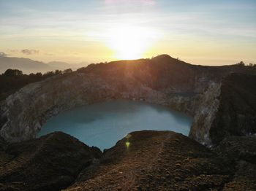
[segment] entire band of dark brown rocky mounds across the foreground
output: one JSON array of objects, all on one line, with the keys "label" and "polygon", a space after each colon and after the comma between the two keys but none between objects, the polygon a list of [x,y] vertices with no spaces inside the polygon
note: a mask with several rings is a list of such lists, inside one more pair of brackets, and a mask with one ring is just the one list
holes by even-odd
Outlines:
[{"label": "entire band of dark brown rocky mounds across the foreground", "polygon": [[178,133],[143,130],[102,154],[51,133],[1,147],[0,190],[254,190],[255,144],[255,136],[233,137],[211,151]]}]

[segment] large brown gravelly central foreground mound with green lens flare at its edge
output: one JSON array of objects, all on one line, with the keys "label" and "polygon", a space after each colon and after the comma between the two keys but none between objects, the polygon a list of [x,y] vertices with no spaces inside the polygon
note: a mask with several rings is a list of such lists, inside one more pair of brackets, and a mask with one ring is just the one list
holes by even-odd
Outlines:
[{"label": "large brown gravelly central foreground mound with green lens flare at its edge", "polygon": [[196,141],[170,131],[130,133],[99,165],[80,173],[67,190],[205,190],[230,179],[230,167]]}]

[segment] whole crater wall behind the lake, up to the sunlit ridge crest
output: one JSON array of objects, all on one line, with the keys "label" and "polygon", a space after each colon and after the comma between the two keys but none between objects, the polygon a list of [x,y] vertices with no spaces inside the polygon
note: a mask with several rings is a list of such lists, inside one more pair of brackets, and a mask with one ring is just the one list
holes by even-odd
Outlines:
[{"label": "whole crater wall behind the lake, up to the sunlit ridge crest", "polygon": [[[2,101],[0,136],[10,142],[29,140],[37,136],[46,120],[59,112],[116,98],[171,106],[195,115],[195,119],[200,121],[197,112],[199,108],[203,109],[203,105],[199,103],[211,104],[211,99],[215,100],[219,93],[214,88],[219,87],[223,77],[233,71],[256,73],[256,70],[244,66],[193,66],[168,55],[137,61],[91,64],[70,74],[27,85]],[[207,88],[208,93],[204,93]],[[216,95],[211,95],[211,92]],[[204,96],[208,97],[206,101],[203,101]],[[218,102],[217,99],[215,102]],[[204,115],[210,114],[211,117],[206,117],[210,123],[215,110],[216,106],[208,106],[203,110]],[[194,124],[199,127],[197,121]],[[200,133],[195,130],[197,128],[193,128],[196,135],[193,137],[200,142],[205,141],[203,136],[209,130],[209,122],[202,124],[206,126],[200,127]],[[211,139],[211,134],[207,134],[207,141],[209,137]]]}]

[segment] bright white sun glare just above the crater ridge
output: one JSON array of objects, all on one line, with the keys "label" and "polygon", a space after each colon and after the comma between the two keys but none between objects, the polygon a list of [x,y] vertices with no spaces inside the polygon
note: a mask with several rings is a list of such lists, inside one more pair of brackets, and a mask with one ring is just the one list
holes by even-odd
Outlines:
[{"label": "bright white sun glare just above the crater ridge", "polygon": [[153,39],[154,35],[149,29],[123,26],[109,31],[108,46],[115,58],[131,60],[142,58]]}]

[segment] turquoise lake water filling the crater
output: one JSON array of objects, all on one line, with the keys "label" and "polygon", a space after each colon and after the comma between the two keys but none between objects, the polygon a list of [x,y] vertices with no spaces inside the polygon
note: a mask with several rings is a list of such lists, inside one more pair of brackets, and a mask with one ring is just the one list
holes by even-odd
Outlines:
[{"label": "turquoise lake water filling the crater", "polygon": [[137,130],[173,130],[189,134],[192,117],[140,101],[107,101],[81,106],[52,117],[38,136],[63,131],[89,146],[108,149]]}]

